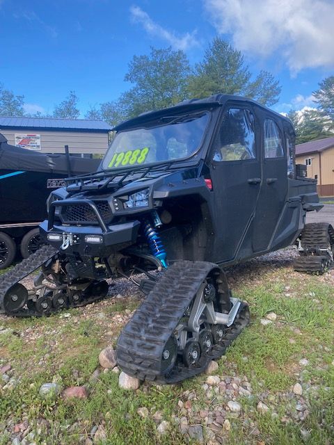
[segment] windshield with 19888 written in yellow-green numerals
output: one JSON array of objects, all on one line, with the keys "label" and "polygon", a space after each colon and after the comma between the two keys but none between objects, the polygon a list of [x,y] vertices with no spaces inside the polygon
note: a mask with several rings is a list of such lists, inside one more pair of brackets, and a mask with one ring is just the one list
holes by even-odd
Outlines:
[{"label": "windshield with 19888 written in yellow-green numerals", "polygon": [[104,170],[188,158],[200,147],[209,113],[166,116],[145,127],[116,134],[102,162]]}]

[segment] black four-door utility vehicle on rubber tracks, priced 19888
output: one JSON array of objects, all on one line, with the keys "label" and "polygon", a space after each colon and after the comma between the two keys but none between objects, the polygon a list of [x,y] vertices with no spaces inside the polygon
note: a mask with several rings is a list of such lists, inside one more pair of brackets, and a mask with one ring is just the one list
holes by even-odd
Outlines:
[{"label": "black four-door utility vehicle on rubber tracks, priced 19888", "polygon": [[[50,245],[0,277],[0,302],[13,316],[48,314],[103,298],[106,278],[128,277],[148,295],[120,334],[118,364],[177,382],[248,323],[221,267],[299,238],[301,258],[322,268],[331,227],[315,227],[312,245],[299,237],[305,213],[321,209],[316,181],[296,175],[291,122],[256,102],[191,100],[116,131],[97,173],[51,193],[40,225]],[[33,291],[18,284],[41,264]]]}]

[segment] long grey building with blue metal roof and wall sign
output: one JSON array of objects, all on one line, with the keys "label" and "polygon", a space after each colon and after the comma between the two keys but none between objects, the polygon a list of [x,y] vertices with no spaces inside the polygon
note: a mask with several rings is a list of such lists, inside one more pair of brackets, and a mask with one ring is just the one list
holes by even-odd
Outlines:
[{"label": "long grey building with blue metal roof and wall sign", "polygon": [[104,154],[111,128],[102,120],[0,116],[0,133],[10,145],[42,153],[64,153],[68,145],[70,154]]}]

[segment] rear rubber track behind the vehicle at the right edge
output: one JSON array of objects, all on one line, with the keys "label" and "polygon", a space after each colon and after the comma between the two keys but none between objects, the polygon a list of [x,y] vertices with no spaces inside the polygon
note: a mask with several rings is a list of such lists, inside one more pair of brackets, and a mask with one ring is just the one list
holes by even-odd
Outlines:
[{"label": "rear rubber track behind the vehicle at the right edge", "polygon": [[331,255],[326,252],[334,243],[334,230],[327,223],[306,224],[301,232],[301,256],[294,261],[297,272],[322,274],[333,264]]}]

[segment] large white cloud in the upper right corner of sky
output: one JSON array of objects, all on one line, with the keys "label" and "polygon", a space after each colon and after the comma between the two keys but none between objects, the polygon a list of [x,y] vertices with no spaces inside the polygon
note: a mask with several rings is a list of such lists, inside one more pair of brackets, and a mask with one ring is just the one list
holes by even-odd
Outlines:
[{"label": "large white cloud in the upper right corner of sky", "polygon": [[283,59],[292,74],[334,67],[333,0],[205,0],[205,8],[245,53]]}]

